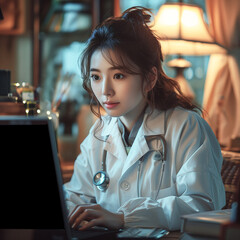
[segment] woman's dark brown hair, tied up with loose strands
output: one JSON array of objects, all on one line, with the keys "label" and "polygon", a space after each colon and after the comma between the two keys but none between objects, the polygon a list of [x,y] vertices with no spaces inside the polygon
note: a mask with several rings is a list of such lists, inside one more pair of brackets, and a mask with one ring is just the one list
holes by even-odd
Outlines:
[{"label": "woman's dark brown hair, tied up with loose strands", "polygon": [[[88,91],[92,100],[91,109],[95,115],[101,117],[100,103],[94,96],[90,84],[90,61],[96,50],[105,54],[113,50],[118,62],[113,62],[110,54],[107,58],[113,66],[118,66],[128,73],[140,74],[143,81],[148,81],[152,69],[157,69],[157,82],[147,93],[146,100],[152,111],[154,109],[167,110],[177,106],[189,110],[200,110],[190,99],[185,97],[178,83],[169,78],[162,68],[162,51],[159,37],[150,29],[151,11],[143,7],[133,7],[126,10],[121,17],[112,17],[96,27],[88,40],[81,59],[83,87]],[[136,72],[134,63],[141,72]],[[93,104],[98,105],[98,111],[93,110]]]}]

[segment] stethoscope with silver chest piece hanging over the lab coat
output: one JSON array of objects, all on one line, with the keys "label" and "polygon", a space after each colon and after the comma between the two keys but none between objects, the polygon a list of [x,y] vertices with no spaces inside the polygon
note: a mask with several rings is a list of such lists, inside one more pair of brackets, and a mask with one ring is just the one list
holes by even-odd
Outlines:
[{"label": "stethoscope with silver chest piece hanging over the lab coat", "polygon": [[[160,181],[159,181],[159,186],[158,186],[157,193],[156,193],[156,198],[157,198],[160,188],[161,188],[161,185],[162,185],[164,167],[165,167],[165,162],[166,162],[166,140],[163,137],[163,135],[147,136],[146,140],[147,140],[150,151],[156,152],[153,156],[153,160],[162,162]],[[106,157],[107,157],[107,151],[104,150],[103,157],[102,157],[102,169],[101,169],[101,171],[98,171],[93,176],[93,184],[102,192],[105,192],[107,190],[107,188],[109,186],[109,182],[110,182],[110,178],[106,171]],[[141,157],[138,162],[138,172],[137,172],[137,194],[138,194],[138,197],[141,196],[139,182],[140,182],[140,176],[142,174],[143,161],[144,161],[144,156]]]}]

